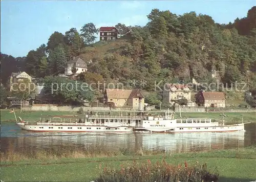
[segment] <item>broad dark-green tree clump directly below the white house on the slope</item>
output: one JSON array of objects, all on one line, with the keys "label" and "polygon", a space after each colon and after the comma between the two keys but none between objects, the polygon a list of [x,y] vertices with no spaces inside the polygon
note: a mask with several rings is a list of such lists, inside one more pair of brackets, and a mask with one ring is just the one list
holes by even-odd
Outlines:
[{"label": "broad dark-green tree clump directly below the white house on the slope", "polygon": [[92,101],[94,93],[82,82],[60,77],[45,77],[45,92],[58,99],[60,103],[82,104],[84,100]]}]

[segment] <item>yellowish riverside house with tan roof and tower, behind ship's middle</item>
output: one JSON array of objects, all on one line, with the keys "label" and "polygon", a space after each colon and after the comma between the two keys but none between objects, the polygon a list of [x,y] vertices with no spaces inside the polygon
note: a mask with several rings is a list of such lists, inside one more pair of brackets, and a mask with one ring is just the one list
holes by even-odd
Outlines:
[{"label": "yellowish riverside house with tan roof and tower, behind ship's middle", "polygon": [[143,110],[144,96],[139,89],[110,89],[106,88],[103,103],[113,102],[116,107],[127,107]]}]

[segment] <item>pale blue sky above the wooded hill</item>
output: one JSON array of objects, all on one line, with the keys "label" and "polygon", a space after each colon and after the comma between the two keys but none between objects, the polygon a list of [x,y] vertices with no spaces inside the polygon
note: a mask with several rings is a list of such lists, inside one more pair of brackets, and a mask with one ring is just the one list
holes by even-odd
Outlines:
[{"label": "pale blue sky above the wooded hill", "polygon": [[93,22],[96,27],[144,26],[152,9],[182,15],[195,11],[220,24],[243,18],[255,1],[1,1],[1,53],[26,56],[57,31],[80,30]]}]

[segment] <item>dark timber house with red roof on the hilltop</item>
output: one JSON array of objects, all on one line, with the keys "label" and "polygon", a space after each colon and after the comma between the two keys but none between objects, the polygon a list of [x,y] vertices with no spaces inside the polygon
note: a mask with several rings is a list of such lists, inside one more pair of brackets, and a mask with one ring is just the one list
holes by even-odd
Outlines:
[{"label": "dark timber house with red roof on the hilltop", "polygon": [[100,27],[99,40],[115,40],[118,39],[119,32],[115,27]]}]

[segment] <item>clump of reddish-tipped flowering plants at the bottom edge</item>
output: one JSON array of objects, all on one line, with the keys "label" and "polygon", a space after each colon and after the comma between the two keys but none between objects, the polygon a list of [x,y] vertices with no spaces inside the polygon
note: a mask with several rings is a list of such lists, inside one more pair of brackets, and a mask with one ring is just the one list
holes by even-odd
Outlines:
[{"label": "clump of reddish-tipped flowering plants at the bottom edge", "polygon": [[[101,167],[101,165],[100,165]],[[126,167],[120,166],[120,170],[104,167],[100,177],[95,180],[97,182],[111,181],[111,182],[170,182],[170,181],[182,181],[182,182],[211,182],[219,179],[218,174],[211,174],[207,170],[206,164],[195,165],[188,167],[187,162],[182,165],[174,166],[166,163],[165,161],[156,164],[151,164],[150,160],[147,163],[129,164]]]}]

